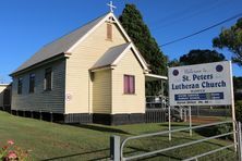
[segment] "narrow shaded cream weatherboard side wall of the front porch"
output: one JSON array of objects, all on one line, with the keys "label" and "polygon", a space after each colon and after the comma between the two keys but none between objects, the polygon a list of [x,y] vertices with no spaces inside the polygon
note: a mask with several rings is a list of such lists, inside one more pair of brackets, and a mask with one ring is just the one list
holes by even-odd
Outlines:
[{"label": "narrow shaded cream weatherboard side wall of the front porch", "polygon": [[111,113],[111,70],[95,72],[93,102],[94,113]]}]

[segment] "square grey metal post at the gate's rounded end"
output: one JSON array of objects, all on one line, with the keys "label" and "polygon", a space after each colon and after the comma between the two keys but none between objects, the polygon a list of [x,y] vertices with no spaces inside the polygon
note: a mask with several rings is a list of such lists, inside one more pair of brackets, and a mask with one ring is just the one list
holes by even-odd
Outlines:
[{"label": "square grey metal post at the gate's rounded end", "polygon": [[110,159],[120,161],[120,136],[112,135],[110,137]]}]

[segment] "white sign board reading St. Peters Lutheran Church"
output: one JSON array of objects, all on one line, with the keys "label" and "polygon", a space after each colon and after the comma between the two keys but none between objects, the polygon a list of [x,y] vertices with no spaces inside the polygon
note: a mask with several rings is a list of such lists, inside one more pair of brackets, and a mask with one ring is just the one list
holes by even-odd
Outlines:
[{"label": "white sign board reading St. Peters Lutheran Church", "polygon": [[170,67],[170,106],[231,104],[231,71],[230,61]]}]

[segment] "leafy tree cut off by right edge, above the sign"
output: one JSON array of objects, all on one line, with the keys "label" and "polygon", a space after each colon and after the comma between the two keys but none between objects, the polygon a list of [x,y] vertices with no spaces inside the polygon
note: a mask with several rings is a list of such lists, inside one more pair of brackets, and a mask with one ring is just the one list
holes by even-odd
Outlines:
[{"label": "leafy tree cut off by right edge, above the sign", "polygon": [[220,35],[213,39],[214,47],[228,48],[234,53],[232,60],[242,66],[242,17],[228,29],[222,29]]}]

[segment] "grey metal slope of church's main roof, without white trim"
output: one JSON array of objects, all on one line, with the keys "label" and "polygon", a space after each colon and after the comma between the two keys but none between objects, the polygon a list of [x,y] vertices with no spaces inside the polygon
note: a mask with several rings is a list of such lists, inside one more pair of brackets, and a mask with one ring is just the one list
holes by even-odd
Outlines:
[{"label": "grey metal slope of church's main roof, without white trim", "polygon": [[[107,13],[108,14],[108,13]],[[66,52],[78,39],[87,34],[93,27],[95,27],[106,15],[102,15],[88,24],[75,29],[74,32],[66,34],[59,39],[44,46],[38,52],[36,52],[31,59],[23,63],[12,74],[25,70],[36,63],[43,62],[60,53]]]}]

